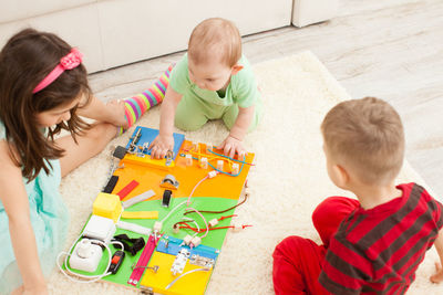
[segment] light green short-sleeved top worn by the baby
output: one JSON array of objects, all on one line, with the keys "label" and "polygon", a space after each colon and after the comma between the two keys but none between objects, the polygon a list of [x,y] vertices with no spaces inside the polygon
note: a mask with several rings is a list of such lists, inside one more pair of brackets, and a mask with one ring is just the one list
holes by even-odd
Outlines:
[{"label": "light green short-sleeved top worn by the baby", "polygon": [[219,91],[202,89],[189,80],[186,53],[174,66],[171,73],[169,85],[174,91],[184,96],[194,96],[220,106],[237,104],[239,107],[249,107],[255,105],[259,99],[260,92],[257,88],[257,81],[248,60],[241,56],[238,64],[244,67],[230,77],[230,83],[223,95]]}]

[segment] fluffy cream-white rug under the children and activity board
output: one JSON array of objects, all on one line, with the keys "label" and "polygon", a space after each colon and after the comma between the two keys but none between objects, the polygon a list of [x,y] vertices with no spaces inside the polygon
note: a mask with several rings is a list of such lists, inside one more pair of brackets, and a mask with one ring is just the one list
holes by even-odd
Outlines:
[{"label": "fluffy cream-white rug under the children and activity board", "polygon": [[[206,294],[272,294],[274,247],[287,235],[319,242],[311,212],[327,196],[344,194],[328,179],[321,149],[320,123],[338,102],[349,99],[346,89],[310,52],[255,66],[266,104],[261,125],[247,136],[248,150],[256,152],[250,170],[251,198],[236,213],[254,224],[239,233],[228,233]],[[370,94],[368,94],[370,95]],[[140,125],[158,128],[159,107],[150,110]],[[127,141],[130,130],[111,145]],[[187,139],[218,145],[227,135],[219,122],[209,123]],[[62,181],[61,192],[71,211],[71,244],[92,210],[109,168],[109,148]],[[399,182],[423,183],[405,164]],[[429,276],[437,255],[434,249],[416,273],[409,294],[443,294],[443,284]],[[73,284],[59,272],[50,278],[53,294],[135,294],[110,283]]]}]

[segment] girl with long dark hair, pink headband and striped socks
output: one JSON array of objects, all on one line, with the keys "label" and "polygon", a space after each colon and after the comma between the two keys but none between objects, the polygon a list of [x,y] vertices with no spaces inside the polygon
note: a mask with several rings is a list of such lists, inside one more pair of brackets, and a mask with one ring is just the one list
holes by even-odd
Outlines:
[{"label": "girl with long dark hair, pink headband and striped socks", "polygon": [[[76,49],[32,29],[8,41],[0,52],[0,294],[48,293],[44,276],[69,225],[61,177],[99,154],[115,126],[130,127],[162,102],[167,82],[168,72],[143,94],[104,105]],[[54,139],[61,129],[71,135]]]}]

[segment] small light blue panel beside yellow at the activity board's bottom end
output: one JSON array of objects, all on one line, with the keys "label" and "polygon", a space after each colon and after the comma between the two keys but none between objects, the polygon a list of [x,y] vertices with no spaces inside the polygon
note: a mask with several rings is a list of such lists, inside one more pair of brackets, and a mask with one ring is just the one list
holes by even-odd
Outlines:
[{"label": "small light blue panel beside yellow at the activity board's bottom end", "polygon": [[[166,241],[168,241],[167,247],[166,247]],[[179,250],[182,247],[184,247],[184,249],[189,250],[190,255],[197,254],[199,256],[208,257],[208,259],[213,259],[213,260],[217,260],[217,257],[218,257],[219,251],[215,247],[200,244],[200,245],[194,247],[193,250],[190,250],[189,246],[187,246],[187,245],[181,246],[182,243],[183,243],[182,239],[176,239],[174,236],[168,236],[166,240],[162,239],[158,242],[157,252],[162,252],[162,253],[166,253],[166,254],[171,254],[171,255],[177,255]]]}]

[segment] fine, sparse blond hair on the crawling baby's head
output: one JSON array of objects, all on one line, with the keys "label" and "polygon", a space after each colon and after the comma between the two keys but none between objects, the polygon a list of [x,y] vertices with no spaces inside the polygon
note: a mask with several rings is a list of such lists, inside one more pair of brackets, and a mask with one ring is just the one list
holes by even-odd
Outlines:
[{"label": "fine, sparse blond hair on the crawling baby's head", "polygon": [[240,33],[231,21],[220,18],[204,20],[190,34],[187,54],[195,64],[218,55],[220,62],[231,67],[241,57]]}]

